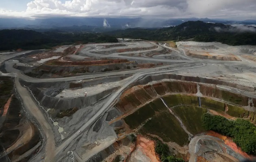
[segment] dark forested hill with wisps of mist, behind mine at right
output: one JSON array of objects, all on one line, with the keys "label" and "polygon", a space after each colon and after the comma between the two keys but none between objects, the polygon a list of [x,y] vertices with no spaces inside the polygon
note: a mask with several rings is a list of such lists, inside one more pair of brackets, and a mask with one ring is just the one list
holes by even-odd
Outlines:
[{"label": "dark forested hill with wisps of mist, behind mine at right", "polygon": [[175,27],[161,29],[126,29],[108,32],[116,37],[140,38],[145,40],[186,40],[221,42],[228,45],[256,45],[256,28],[233,27],[222,23],[187,21]]}]

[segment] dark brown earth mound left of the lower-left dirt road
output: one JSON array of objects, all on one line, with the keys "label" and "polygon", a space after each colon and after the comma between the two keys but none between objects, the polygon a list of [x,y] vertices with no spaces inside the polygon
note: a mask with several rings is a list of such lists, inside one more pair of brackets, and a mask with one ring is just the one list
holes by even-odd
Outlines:
[{"label": "dark brown earth mound left of the lower-left dirt road", "polygon": [[[8,103],[9,101],[10,103]],[[30,156],[25,152],[37,145],[41,136],[35,125],[28,122],[26,115],[21,114],[20,100],[13,95],[9,101],[6,104],[6,108],[9,105],[7,118],[0,130],[0,140],[1,145],[7,150],[9,158],[15,161],[23,155],[23,158]]]}]

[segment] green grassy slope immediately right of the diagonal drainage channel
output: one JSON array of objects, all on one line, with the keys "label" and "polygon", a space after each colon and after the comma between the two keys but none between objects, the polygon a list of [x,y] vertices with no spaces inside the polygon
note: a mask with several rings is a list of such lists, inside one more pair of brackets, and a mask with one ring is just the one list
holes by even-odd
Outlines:
[{"label": "green grassy slope immediately right of the diagonal drainage channel", "polygon": [[179,106],[175,107],[173,111],[193,135],[206,131],[202,126],[201,118],[207,112],[207,109],[194,106]]}]

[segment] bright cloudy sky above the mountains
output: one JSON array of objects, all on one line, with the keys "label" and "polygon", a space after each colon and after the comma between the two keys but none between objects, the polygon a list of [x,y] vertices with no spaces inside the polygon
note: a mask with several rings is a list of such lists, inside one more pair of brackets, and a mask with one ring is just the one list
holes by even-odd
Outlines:
[{"label": "bright cloudy sky above the mountains", "polygon": [[256,19],[256,0],[0,0],[0,17]]}]

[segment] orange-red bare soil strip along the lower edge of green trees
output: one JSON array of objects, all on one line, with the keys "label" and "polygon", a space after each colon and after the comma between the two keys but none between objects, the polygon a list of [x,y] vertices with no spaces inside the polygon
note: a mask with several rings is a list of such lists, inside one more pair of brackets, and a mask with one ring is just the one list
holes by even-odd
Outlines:
[{"label": "orange-red bare soil strip along the lower edge of green trees", "polygon": [[232,139],[228,138],[227,136],[223,136],[217,132],[214,131],[208,131],[206,133],[207,135],[210,136],[215,136],[219,139],[222,139],[226,145],[228,145],[230,148],[232,148],[232,150],[234,150],[236,153],[241,154],[242,156],[244,156],[245,158],[252,158],[251,156],[249,156],[247,153],[245,153],[244,151],[242,151],[242,149],[240,147],[238,147],[233,141]]}]

